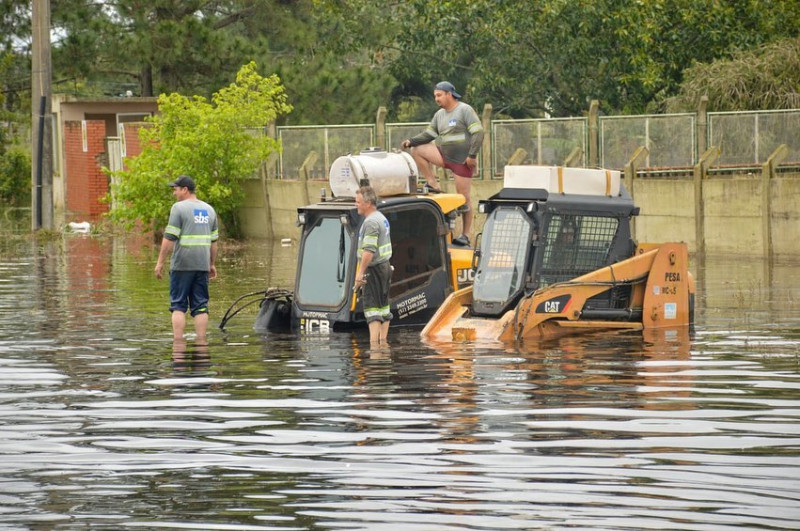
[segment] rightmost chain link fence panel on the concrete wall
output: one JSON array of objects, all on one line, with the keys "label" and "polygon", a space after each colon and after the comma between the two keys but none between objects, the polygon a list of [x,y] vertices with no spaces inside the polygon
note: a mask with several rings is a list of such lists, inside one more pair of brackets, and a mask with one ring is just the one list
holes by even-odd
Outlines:
[{"label": "rightmost chain link fence panel on the concrete wall", "polygon": [[785,163],[800,163],[800,110],[708,113],[709,146],[720,148],[715,166],[761,165],[781,144]]}]

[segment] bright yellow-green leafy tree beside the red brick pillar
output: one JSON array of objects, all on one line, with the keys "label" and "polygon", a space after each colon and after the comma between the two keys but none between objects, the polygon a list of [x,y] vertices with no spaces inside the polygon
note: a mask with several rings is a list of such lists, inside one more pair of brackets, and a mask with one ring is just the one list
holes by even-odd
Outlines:
[{"label": "bright yellow-green leafy tree beside the red brick pillar", "polygon": [[140,130],[142,153],[126,160],[127,170],[112,173],[111,218],[128,227],[165,222],[173,201],[166,183],[188,174],[217,210],[223,230],[240,236],[242,181],[280,148],[263,128],[292,110],[280,79],[262,77],[251,62],[210,102],[172,93],[158,104],[159,114]]}]

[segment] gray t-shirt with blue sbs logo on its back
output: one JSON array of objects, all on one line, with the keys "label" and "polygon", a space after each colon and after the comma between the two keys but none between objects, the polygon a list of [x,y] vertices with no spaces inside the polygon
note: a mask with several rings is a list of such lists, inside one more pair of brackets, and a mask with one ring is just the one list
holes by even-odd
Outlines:
[{"label": "gray t-shirt with blue sbs logo on its back", "polygon": [[217,213],[199,199],[185,199],[172,205],[164,237],[175,242],[172,271],[208,271],[211,242],[219,239]]}]

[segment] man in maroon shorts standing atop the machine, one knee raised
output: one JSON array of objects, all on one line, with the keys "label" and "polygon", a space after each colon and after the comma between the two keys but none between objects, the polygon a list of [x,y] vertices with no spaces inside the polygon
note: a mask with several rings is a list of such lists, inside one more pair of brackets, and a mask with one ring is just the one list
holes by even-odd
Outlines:
[{"label": "man in maroon shorts standing atop the machine, one knee raised", "polygon": [[[483,125],[475,109],[459,101],[461,95],[449,81],[437,83],[433,97],[440,109],[433,115],[430,125],[422,133],[403,140],[401,146],[411,148],[411,156],[433,192],[441,190],[430,165],[453,172],[456,192],[464,196],[467,208],[463,234],[454,238],[453,243],[469,245],[468,235],[474,217],[469,192],[483,143]],[[433,141],[436,142],[431,143]]]}]

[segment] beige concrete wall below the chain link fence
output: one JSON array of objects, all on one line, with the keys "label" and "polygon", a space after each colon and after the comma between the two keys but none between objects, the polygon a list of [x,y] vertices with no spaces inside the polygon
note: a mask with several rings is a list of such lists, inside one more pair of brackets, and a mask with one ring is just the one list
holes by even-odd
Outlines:
[{"label": "beige concrete wall below the chain link fence", "polygon": [[[441,182],[441,181],[440,181]],[[762,257],[766,253],[765,235],[771,239],[777,258],[800,258],[800,174],[779,174],[769,183],[770,223],[762,216],[761,175],[711,177],[702,182],[705,208],[703,230],[706,254]],[[476,180],[472,187],[473,207],[502,186],[501,180]],[[274,239],[299,236],[295,225],[297,207],[319,200],[325,181],[282,181],[253,179],[246,183],[248,200],[241,211],[248,238]],[[455,191],[446,181],[445,191]],[[691,177],[639,178],[630,187],[641,208],[635,221],[635,237],[640,242],[685,241],[694,252],[695,186]],[[330,197],[330,192],[327,192]],[[269,209],[265,208],[268,204]],[[268,220],[271,218],[271,224]],[[483,228],[483,216],[476,214],[474,233]]]}]

